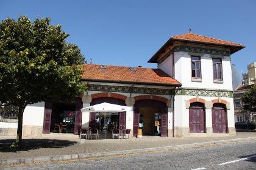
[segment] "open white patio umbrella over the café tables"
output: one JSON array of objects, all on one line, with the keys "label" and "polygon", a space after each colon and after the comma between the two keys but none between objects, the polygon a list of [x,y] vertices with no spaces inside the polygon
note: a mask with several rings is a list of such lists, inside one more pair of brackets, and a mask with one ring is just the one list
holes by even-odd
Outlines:
[{"label": "open white patio umbrella over the caf\u00e9 tables", "polygon": [[[81,112],[101,112],[104,113],[104,126],[105,126],[105,116],[106,112],[108,113],[118,113],[118,112],[127,112],[131,111],[132,107],[121,106],[118,104],[110,104],[110,103],[101,103],[95,104],[93,106],[84,107],[81,109]],[[105,132],[106,137],[106,132]]]}]

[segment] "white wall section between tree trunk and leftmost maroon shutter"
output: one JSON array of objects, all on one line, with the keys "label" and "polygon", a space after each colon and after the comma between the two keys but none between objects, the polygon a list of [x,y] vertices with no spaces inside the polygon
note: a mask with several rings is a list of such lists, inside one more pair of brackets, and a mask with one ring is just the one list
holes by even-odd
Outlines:
[{"label": "white wall section between tree trunk and leftmost maroon shutter", "polygon": [[24,110],[23,125],[43,126],[44,102],[29,104]]}]

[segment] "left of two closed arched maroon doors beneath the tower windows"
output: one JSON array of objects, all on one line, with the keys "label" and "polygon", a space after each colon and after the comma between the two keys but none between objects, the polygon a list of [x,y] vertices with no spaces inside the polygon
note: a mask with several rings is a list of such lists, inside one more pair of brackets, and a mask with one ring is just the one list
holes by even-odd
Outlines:
[{"label": "left of two closed arched maroon doors beneath the tower windows", "polygon": [[205,132],[205,111],[203,103],[194,102],[190,104],[189,124],[190,133]]}]

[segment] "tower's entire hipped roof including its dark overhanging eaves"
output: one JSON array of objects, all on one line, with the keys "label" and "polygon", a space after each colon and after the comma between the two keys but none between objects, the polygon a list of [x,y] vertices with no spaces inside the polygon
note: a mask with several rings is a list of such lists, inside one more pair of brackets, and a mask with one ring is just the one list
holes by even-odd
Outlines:
[{"label": "tower's entire hipped roof including its dark overhanging eaves", "polygon": [[229,47],[230,53],[235,53],[238,50],[243,49],[245,46],[243,44],[238,44],[235,42],[230,42],[230,41],[224,41],[221,39],[216,39],[216,38],[210,38],[207,36],[202,36],[202,35],[197,35],[192,32],[190,33],[185,33],[181,35],[174,35],[169,38],[167,42],[149,59],[148,63],[157,63],[158,60],[158,55],[159,53],[165,52],[166,47],[171,45],[174,41],[186,41],[186,42],[197,42],[201,44],[212,44],[216,46],[224,46],[224,47]]}]

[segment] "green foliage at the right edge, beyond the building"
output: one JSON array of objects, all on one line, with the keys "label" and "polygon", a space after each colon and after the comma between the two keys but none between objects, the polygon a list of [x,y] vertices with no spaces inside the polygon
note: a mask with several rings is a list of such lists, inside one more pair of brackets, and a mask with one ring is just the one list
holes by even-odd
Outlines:
[{"label": "green foliage at the right edge, beyond the building", "polygon": [[244,103],[245,110],[256,110],[256,84],[242,95],[241,100]]}]

